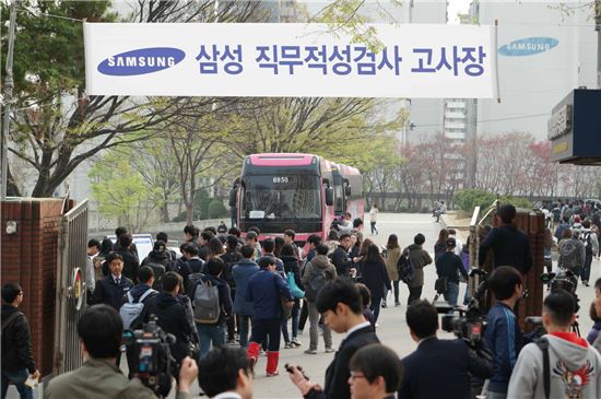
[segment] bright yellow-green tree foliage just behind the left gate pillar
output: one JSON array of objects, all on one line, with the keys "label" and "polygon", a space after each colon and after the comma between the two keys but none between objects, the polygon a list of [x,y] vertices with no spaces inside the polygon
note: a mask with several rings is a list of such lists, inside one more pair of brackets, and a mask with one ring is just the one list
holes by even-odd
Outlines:
[{"label": "bright yellow-green tree foliage just behind the left gate pillar", "polygon": [[98,202],[101,214],[115,218],[119,225],[131,232],[141,231],[150,220],[152,211],[160,206],[155,189],[144,184],[129,160],[116,152],[109,152],[89,173],[92,197]]}]

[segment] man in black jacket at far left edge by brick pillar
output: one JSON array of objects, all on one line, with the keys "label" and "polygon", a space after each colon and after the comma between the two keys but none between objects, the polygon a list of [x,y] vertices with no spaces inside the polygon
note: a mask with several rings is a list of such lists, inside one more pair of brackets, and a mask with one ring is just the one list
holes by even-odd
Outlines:
[{"label": "man in black jacket at far left edge by brick pillar", "polygon": [[34,397],[32,388],[25,385],[31,376],[39,378],[32,355],[32,341],[27,318],[19,310],[23,302],[23,290],[17,283],[2,285],[2,399],[7,397],[9,382],[16,386],[21,398]]}]

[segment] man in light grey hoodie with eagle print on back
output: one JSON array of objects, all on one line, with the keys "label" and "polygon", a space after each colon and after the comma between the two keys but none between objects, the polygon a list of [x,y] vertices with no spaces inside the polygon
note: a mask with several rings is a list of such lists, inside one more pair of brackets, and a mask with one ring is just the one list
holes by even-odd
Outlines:
[{"label": "man in light grey hoodie with eagle print on back", "polygon": [[544,352],[538,343],[526,345],[514,367],[507,398],[601,398],[601,355],[570,331],[576,302],[565,292],[549,294],[543,304],[543,326],[549,342],[549,379]]}]

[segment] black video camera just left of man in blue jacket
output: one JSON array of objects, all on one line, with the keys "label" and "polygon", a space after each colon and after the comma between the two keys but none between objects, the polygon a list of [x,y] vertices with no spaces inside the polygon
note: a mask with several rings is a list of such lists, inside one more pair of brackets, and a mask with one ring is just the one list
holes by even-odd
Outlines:
[{"label": "black video camera just left of man in blue jacket", "polygon": [[[472,348],[480,343],[486,328],[486,315],[480,309],[480,300],[486,292],[488,273],[484,270],[473,269],[470,277],[474,275],[480,275],[482,282],[467,307],[451,306],[447,302],[434,302],[436,310],[439,314],[445,314],[441,322],[443,330],[455,333],[457,338],[462,339]],[[456,315],[456,312],[459,315]]]}]

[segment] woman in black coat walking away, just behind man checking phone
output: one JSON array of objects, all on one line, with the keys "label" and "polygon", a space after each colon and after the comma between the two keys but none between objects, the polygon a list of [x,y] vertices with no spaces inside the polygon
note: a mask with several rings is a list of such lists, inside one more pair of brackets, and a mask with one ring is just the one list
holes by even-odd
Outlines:
[{"label": "woman in black coat walking away, just behind man checking phone", "polygon": [[386,293],[385,289],[391,290],[392,286],[390,285],[388,271],[386,271],[386,263],[376,244],[370,244],[367,247],[367,253],[361,260],[360,275],[361,282],[367,285],[372,293],[372,305],[369,308],[377,321],[380,314],[380,303]]}]

